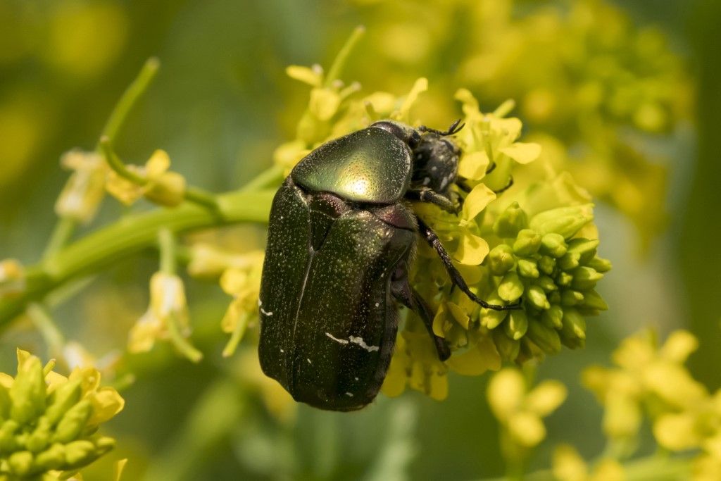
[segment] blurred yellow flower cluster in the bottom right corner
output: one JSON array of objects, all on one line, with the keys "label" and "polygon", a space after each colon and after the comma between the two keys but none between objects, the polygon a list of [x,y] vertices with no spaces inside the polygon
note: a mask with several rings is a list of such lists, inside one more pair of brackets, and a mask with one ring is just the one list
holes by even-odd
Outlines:
[{"label": "blurred yellow flower cluster in the bottom right corner", "polygon": [[721,477],[721,389],[710,394],[684,366],[698,341],[672,332],[658,345],[653,332],[627,338],[613,354],[614,368],[591,366],[583,382],[605,407],[603,431],[624,456],[632,454],[644,418],[669,451],[696,450],[694,480]]}]

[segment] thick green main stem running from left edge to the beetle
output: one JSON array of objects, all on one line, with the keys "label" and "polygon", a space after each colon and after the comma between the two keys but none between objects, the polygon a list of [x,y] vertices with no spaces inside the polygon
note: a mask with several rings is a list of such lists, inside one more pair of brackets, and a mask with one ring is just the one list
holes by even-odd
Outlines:
[{"label": "thick green main stem running from left edge to the beetle", "polygon": [[68,280],[100,272],[123,257],[156,243],[160,227],[174,234],[239,222],[267,222],[275,190],[242,190],[217,196],[218,209],[194,203],[177,208],[131,214],[94,231],[26,269],[27,288],[12,299],[0,299],[0,328],[20,314],[30,301],[41,300]]}]

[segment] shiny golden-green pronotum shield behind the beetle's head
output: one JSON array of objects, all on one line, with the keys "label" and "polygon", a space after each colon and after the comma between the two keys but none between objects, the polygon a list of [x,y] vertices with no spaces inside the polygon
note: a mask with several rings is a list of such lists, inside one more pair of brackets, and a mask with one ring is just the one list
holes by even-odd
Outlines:
[{"label": "shiny golden-green pronotum shield behind the beetle's head", "polygon": [[352,202],[391,204],[410,185],[411,152],[392,133],[364,128],[319,146],[291,172],[309,192],[329,192]]}]

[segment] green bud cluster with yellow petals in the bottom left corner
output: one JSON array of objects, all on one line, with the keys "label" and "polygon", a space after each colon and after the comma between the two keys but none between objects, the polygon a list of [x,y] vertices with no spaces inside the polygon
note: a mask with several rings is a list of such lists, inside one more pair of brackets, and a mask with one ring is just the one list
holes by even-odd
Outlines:
[{"label": "green bud cluster with yellow petals in the bottom left corner", "polygon": [[[115,446],[96,434],[123,409],[123,398],[100,387],[99,371],[65,377],[17,351],[17,376],[0,374],[0,478],[36,479],[87,466]],[[69,474],[71,474],[69,473]]]}]

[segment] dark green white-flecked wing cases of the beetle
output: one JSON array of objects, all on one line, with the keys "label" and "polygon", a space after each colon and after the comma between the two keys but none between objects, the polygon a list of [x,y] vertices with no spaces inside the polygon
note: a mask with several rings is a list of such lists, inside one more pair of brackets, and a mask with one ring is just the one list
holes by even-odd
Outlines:
[{"label": "dark green white-flecked wing cases of the beetle", "polygon": [[354,410],[373,400],[386,374],[397,331],[389,281],[415,232],[327,195],[287,180],[273,202],[260,363],[296,400]]}]

